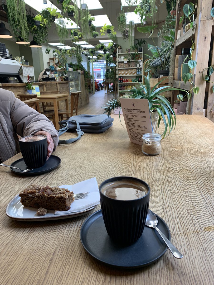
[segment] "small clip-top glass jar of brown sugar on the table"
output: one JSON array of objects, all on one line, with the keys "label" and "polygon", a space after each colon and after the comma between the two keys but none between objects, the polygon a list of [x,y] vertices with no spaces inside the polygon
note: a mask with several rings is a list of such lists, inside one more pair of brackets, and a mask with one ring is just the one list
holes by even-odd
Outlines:
[{"label": "small clip-top glass jar of brown sugar on the table", "polygon": [[161,152],[161,135],[147,133],[143,135],[142,152],[146,155],[157,155]]}]

